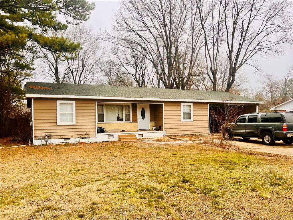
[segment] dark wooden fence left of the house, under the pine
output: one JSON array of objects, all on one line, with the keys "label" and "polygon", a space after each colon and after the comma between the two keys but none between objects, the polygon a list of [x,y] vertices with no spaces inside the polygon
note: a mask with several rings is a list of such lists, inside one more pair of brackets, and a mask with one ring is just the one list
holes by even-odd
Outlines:
[{"label": "dark wooden fence left of the house, under the pine", "polygon": [[30,126],[30,119],[0,119],[0,136],[1,138],[18,137],[23,141],[31,136],[32,127]]}]

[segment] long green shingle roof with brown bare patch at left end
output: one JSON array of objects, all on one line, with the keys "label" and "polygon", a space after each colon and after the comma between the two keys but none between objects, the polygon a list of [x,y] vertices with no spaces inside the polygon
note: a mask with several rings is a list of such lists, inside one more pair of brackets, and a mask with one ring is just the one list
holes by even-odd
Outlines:
[{"label": "long green shingle roof with brown bare patch at left end", "polygon": [[120,99],[151,101],[202,101],[261,104],[251,98],[228,92],[160,89],[144,87],[120,87],[86,84],[27,82],[26,97]]}]

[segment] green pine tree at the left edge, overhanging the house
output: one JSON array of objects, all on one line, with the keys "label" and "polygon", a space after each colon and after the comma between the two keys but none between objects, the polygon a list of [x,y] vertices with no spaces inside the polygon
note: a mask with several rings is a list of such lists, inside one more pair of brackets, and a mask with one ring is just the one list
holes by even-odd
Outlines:
[{"label": "green pine tree at the left edge, overhanging the house", "polygon": [[[1,117],[10,117],[23,106],[22,82],[32,76],[35,47],[73,53],[79,48],[63,36],[48,36],[89,18],[95,4],[85,0],[1,0]],[[57,20],[57,14],[66,21]]]}]

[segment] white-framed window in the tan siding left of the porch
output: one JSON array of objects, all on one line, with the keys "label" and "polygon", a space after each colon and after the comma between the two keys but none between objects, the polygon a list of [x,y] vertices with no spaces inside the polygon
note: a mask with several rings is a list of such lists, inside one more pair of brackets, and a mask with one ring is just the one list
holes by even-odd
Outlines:
[{"label": "white-framed window in the tan siding left of the porch", "polygon": [[75,101],[57,100],[57,125],[75,124]]}]

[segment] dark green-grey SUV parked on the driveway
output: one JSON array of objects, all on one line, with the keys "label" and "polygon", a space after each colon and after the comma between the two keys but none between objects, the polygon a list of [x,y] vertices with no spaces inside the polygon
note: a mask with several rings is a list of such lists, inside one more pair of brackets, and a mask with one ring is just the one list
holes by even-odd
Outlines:
[{"label": "dark green-grey SUV parked on the driveway", "polygon": [[223,137],[261,138],[265,145],[274,145],[275,141],[293,143],[292,113],[250,113],[239,116],[233,123],[224,125]]}]

